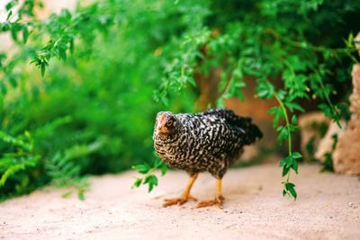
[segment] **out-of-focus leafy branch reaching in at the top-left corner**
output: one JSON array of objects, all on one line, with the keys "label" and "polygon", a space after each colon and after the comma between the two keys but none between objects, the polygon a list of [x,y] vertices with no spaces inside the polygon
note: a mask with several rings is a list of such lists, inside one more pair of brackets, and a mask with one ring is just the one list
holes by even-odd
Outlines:
[{"label": "out-of-focus leafy branch reaching in at the top-left corner", "polygon": [[[39,67],[41,76],[45,75],[49,61],[51,58],[66,60],[67,51],[74,52],[75,40],[86,40],[91,43],[94,40],[96,31],[106,31],[113,23],[116,16],[112,11],[116,11],[109,7],[108,3],[94,3],[80,8],[76,13],[70,13],[69,10],[63,9],[58,14],[51,14],[49,19],[45,21],[37,20],[32,11],[36,1],[25,1],[32,3],[20,6],[19,14],[15,21],[11,21],[10,16],[17,1],[12,1],[6,7],[8,17],[5,22],[0,22],[0,31],[10,31],[15,42],[18,40],[19,32],[22,32],[23,44],[26,44],[31,34],[31,39],[40,37],[49,37],[49,41],[44,47],[36,46],[32,49],[31,64]],[[27,10],[26,10],[27,9]],[[23,20],[23,14],[27,13],[31,20]],[[85,27],[86,26],[86,27]],[[29,30],[31,27],[31,31]]]}]

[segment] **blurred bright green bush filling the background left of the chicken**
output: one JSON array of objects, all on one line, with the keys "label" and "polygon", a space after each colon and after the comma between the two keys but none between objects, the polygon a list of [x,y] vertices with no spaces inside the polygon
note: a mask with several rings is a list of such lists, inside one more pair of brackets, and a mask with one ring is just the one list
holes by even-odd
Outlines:
[{"label": "blurred bright green bush filling the background left of the chicken", "polygon": [[[2,199],[49,182],[72,186],[84,198],[86,174],[117,173],[152,161],[153,118],[161,107],[152,98],[162,76],[154,51],[176,29],[156,27],[172,14],[172,3],[164,4],[166,14],[148,12],[154,4],[135,11],[137,5],[141,1],[104,1],[45,20],[27,14],[31,21],[14,11],[1,23],[2,31],[14,29],[17,39],[16,48],[2,55],[0,126],[6,138],[19,139],[7,140],[14,147],[0,145]],[[149,18],[143,18],[144,12]],[[26,44],[21,39],[25,26]],[[31,61],[42,74],[27,67]],[[189,108],[192,93],[185,96],[188,101],[169,103]],[[29,141],[28,159],[18,148]]]}]

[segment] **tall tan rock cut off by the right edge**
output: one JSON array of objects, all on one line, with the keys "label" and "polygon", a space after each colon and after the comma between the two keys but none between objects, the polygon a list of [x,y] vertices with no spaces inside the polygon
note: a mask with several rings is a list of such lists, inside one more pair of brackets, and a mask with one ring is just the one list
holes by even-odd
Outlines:
[{"label": "tall tan rock cut off by the right edge", "polygon": [[[360,38],[357,35],[356,38]],[[360,67],[353,67],[353,93],[350,96],[351,119],[347,129],[333,153],[334,170],[336,173],[360,174]]]}]

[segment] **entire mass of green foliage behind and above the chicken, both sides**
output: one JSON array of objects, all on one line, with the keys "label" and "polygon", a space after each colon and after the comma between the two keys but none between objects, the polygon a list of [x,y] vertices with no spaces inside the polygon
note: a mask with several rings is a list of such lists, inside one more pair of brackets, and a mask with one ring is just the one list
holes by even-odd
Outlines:
[{"label": "entire mass of green foliage behind and above the chicken, both sides", "polygon": [[[359,22],[356,1],[103,0],[44,20],[33,14],[41,7],[10,1],[0,23],[16,43],[0,55],[3,197],[150,163],[156,112],[164,103],[193,111],[195,76],[213,69],[221,73],[218,106],[243,99],[246,76],[257,79],[257,97],[278,102],[269,113],[279,144],[288,145],[283,192],[295,199],[302,103],[316,99],[337,122],[348,114],[336,98],[357,62],[349,35]],[[159,163],[136,165],[146,175],[135,185],[151,191]]]}]

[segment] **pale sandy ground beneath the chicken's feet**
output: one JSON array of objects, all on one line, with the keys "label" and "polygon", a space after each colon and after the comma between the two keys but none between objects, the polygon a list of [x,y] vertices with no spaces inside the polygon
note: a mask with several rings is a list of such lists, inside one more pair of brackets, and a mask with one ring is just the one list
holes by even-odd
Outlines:
[{"label": "pale sandy ground beneath the chicken's feet", "polygon": [[[360,239],[358,177],[301,165],[293,201],[281,195],[280,171],[276,164],[230,170],[224,209],[162,208],[165,196],[184,188],[183,172],[167,173],[150,194],[130,190],[132,172],[93,177],[84,201],[46,188],[0,203],[0,239]],[[193,195],[211,199],[214,185],[203,173]]]}]

